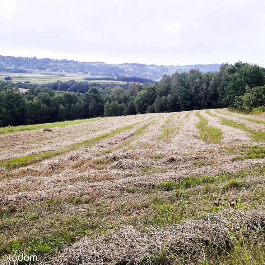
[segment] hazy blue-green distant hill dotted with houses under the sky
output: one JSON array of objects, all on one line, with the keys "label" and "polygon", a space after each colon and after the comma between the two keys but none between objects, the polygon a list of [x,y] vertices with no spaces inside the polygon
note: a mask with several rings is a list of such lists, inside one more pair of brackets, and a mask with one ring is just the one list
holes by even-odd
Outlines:
[{"label": "hazy blue-green distant hill dotted with houses under the sky", "polygon": [[201,72],[218,71],[221,64],[195,64],[184,66],[146,65],[142,63],[108,64],[104,62],[77,62],[72,60],[56,60],[36,57],[0,56],[0,72],[30,72],[37,69],[45,72],[72,72],[90,74],[91,76],[107,77],[142,77],[159,80],[163,74],[174,72],[188,72],[190,69],[199,69]]}]

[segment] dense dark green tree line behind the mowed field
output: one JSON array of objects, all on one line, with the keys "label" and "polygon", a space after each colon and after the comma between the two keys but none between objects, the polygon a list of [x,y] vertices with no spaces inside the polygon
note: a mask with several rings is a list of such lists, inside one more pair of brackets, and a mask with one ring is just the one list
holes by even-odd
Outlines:
[{"label": "dense dark green tree line behind the mowed field", "polygon": [[0,126],[222,107],[265,110],[265,69],[222,64],[217,72],[164,75],[157,84],[0,81]]}]

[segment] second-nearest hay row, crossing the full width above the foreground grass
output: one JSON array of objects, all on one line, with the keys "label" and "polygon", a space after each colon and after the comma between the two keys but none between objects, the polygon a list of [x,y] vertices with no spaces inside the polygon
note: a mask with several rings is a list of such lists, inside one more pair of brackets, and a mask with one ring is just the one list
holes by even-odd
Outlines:
[{"label": "second-nearest hay row, crossing the full width above the foreground grass", "polygon": [[[120,192],[128,187],[152,187],[156,184],[165,181],[174,181],[175,179],[185,178],[189,176],[214,176],[221,173],[236,173],[239,170],[247,170],[259,168],[265,164],[265,159],[251,159],[244,161],[228,162],[219,167],[201,167],[194,170],[173,170],[168,173],[156,173],[150,175],[131,174],[132,171],[128,170],[129,177],[121,178],[118,180],[103,180],[100,182],[87,183],[81,182],[76,184],[64,185],[58,188],[39,189],[36,191],[19,192],[16,194],[1,194],[0,206],[7,204],[20,204],[32,203],[37,201],[45,201],[49,198],[65,198],[67,196],[83,196],[84,194],[90,199],[108,197],[110,194]],[[126,174],[126,171],[124,174]],[[108,172],[108,171],[106,171]],[[88,171],[89,173],[89,171]],[[85,172],[83,172],[85,174]],[[53,179],[53,176],[47,178]],[[1,182],[1,186],[10,184],[8,181]],[[44,185],[45,186],[45,185]],[[11,188],[11,187],[10,187]]]}]

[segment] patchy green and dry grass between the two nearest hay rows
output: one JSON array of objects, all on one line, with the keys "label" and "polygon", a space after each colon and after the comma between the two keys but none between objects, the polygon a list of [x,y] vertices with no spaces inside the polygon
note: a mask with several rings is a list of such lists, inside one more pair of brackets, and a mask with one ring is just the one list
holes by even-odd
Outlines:
[{"label": "patchy green and dry grass between the two nearest hay rows", "polygon": [[[0,252],[7,255],[27,253],[43,258],[44,256],[53,258],[58,253],[62,253],[69,244],[79,241],[84,236],[94,239],[95,236],[102,235],[102,239],[109,243],[108,233],[115,232],[123,225],[132,225],[140,233],[143,232],[148,244],[148,236],[153,236],[149,233],[152,229],[155,231],[177,229],[176,225],[187,219],[209,222],[212,219],[205,219],[206,216],[221,214],[229,208],[230,211],[234,211],[229,204],[233,196],[236,196],[238,200],[235,210],[241,209],[243,213],[249,209],[263,207],[264,188],[252,182],[248,183],[248,179],[263,178],[264,174],[265,167],[262,167],[240,171],[236,174],[176,179],[157,184],[152,189],[129,186],[121,192],[105,193],[94,202],[90,200],[89,195],[83,194],[87,197],[50,198],[44,202],[25,204],[15,209],[9,208],[5,211],[1,209],[0,230],[3,241],[0,242]],[[222,199],[220,207],[213,207],[213,200],[219,197]],[[84,198],[89,198],[89,200],[84,202]],[[77,213],[78,209],[81,213]],[[171,248],[172,253],[169,253],[169,249],[166,252],[161,249],[161,253],[155,253],[156,258],[151,257],[156,262],[148,264],[263,264],[261,263],[263,258],[259,255],[262,254],[265,258],[264,245],[262,247],[258,241],[261,238],[263,239],[261,242],[264,243],[263,223],[260,220],[250,220],[252,230],[249,229],[248,234],[244,235],[244,223],[240,221],[241,219],[239,225],[234,227],[237,220],[229,218],[224,217],[224,220],[220,218],[218,223],[221,226],[227,225],[229,228],[230,237],[227,237],[227,245],[224,249],[218,249],[216,245],[211,246],[210,240],[204,240],[200,236],[194,238],[191,234],[191,245],[195,244],[196,248],[191,246],[178,249],[179,245],[174,244],[173,241],[170,246],[166,244],[164,246],[164,248]],[[262,216],[260,218],[262,220]],[[255,230],[260,224],[262,225],[260,230]],[[200,235],[204,235],[203,228],[198,226]],[[207,227],[205,229],[209,235],[210,231]],[[259,234],[255,234],[256,232]],[[189,230],[183,233],[185,233],[184,236],[189,236]],[[167,235],[170,236],[170,233]],[[255,241],[253,241],[253,236],[257,236]],[[251,255],[253,263],[241,263],[241,260],[238,262],[239,255],[241,255],[239,248]],[[256,256],[254,251],[257,252]],[[109,252],[109,255],[113,254]],[[205,260],[209,260],[209,263],[205,263]],[[74,262],[78,263],[77,260]],[[133,264],[134,260],[132,259],[131,262]],[[119,264],[130,263],[122,261]],[[142,263],[144,264],[146,263]]]}]

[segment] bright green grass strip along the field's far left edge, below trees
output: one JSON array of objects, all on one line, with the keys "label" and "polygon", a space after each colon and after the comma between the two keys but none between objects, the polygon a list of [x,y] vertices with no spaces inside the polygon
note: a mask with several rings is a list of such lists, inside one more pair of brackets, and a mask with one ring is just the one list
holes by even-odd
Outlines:
[{"label": "bright green grass strip along the field's far left edge, below trees", "polygon": [[97,120],[102,120],[107,118],[92,118],[92,119],[84,119],[84,120],[74,120],[74,121],[63,121],[63,122],[54,122],[54,123],[43,123],[43,124],[34,124],[34,125],[23,125],[16,127],[3,127],[0,128],[0,134],[8,134],[8,133],[19,133],[23,131],[32,131],[43,128],[55,128],[55,127],[65,127],[69,125],[76,125],[81,123],[88,123]]}]

